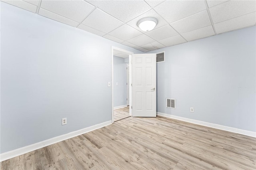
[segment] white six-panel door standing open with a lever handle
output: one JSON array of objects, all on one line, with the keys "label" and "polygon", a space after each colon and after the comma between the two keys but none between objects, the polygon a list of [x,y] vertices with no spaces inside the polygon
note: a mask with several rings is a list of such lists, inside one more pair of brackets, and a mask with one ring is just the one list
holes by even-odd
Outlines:
[{"label": "white six-panel door standing open with a lever handle", "polygon": [[156,117],[156,54],[132,54],[132,116]]}]

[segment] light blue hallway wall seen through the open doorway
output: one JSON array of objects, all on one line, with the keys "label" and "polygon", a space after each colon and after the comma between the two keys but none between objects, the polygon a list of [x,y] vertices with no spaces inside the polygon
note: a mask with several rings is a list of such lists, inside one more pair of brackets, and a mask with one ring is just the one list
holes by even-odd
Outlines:
[{"label": "light blue hallway wall seen through the open doorway", "polygon": [[114,56],[114,107],[126,105],[126,97],[126,63],[124,58]]}]

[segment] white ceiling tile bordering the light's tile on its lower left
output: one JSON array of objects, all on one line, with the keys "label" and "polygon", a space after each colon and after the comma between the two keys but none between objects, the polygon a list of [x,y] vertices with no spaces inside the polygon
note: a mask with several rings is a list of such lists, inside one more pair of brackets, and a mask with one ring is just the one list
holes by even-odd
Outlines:
[{"label": "white ceiling tile bordering the light's tile on its lower left", "polygon": [[139,32],[131,26],[124,24],[108,34],[122,40],[129,40],[131,38],[139,36],[140,34],[142,34],[142,32]]}]

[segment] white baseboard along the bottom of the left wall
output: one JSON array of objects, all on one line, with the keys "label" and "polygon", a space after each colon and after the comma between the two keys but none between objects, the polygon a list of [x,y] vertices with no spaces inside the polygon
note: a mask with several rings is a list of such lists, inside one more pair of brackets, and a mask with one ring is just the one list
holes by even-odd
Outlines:
[{"label": "white baseboard along the bottom of the left wall", "polygon": [[14,158],[16,156],[19,156],[19,155],[22,155],[22,154],[25,154],[25,153],[28,153],[28,152],[31,152],[33,150],[43,148],[45,146],[49,146],[49,145],[57,143],[57,142],[61,142],[63,140],[69,139],[69,138],[73,138],[73,137],[78,136],[80,134],[84,134],[84,133],[90,132],[92,130],[96,130],[98,128],[108,126],[110,124],[112,124],[112,121],[106,121],[106,122],[103,122],[103,123],[100,123],[100,124],[97,124],[97,125],[93,125],[91,127],[76,130],[74,132],[70,132],[70,133],[67,133],[67,134],[63,134],[63,135],[60,135],[60,136],[56,136],[54,138],[44,140],[42,142],[38,142],[38,143],[35,143],[35,144],[24,146],[22,148],[11,150],[9,152],[2,153],[2,154],[0,154],[0,162],[2,162],[4,160],[8,160],[10,158]]}]

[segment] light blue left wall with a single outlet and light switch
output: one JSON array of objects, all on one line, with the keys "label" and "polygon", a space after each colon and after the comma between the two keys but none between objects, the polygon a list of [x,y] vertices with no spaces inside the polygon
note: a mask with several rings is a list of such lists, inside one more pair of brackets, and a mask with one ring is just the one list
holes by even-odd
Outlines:
[{"label": "light blue left wall with a single outlet and light switch", "polygon": [[110,121],[111,46],[141,51],[0,3],[0,153]]}]

